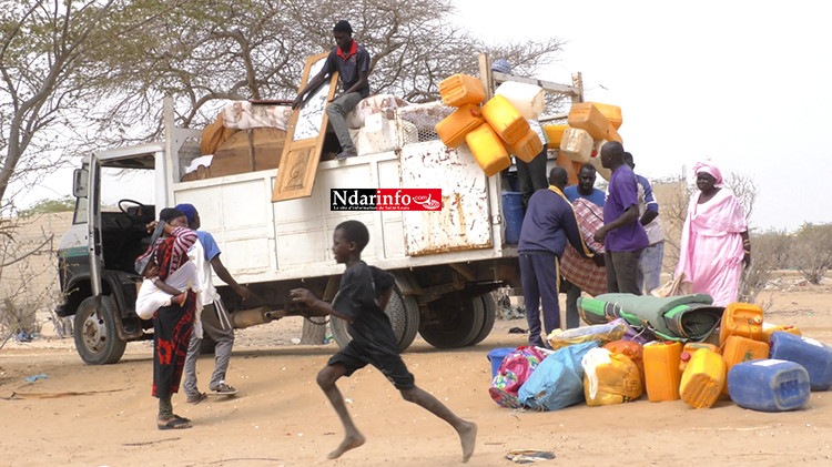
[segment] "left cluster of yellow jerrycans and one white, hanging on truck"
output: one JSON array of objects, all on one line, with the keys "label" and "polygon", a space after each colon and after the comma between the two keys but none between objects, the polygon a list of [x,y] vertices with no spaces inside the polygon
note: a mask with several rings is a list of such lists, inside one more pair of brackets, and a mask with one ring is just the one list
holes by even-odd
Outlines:
[{"label": "left cluster of yellow jerrycans and one white, hanging on truck", "polygon": [[529,125],[544,110],[542,88],[505,82],[483,104],[483,83],[454,74],[439,83],[439,94],[445,105],[457,110],[436,124],[436,133],[448,148],[468,144],[487,176],[508,169],[509,154],[530,162],[542,151],[540,136]]}]

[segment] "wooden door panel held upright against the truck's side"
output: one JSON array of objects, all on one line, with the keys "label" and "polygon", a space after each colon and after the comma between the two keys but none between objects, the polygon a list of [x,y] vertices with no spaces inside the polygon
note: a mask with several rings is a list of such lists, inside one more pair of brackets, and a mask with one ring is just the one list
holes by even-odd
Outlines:
[{"label": "wooden door panel held upright against the truck's side", "polygon": [[[328,52],[306,59],[301,80],[302,90],[310,79],[323,68]],[[315,173],[321,159],[321,148],[326,134],[326,105],[335,94],[338,73],[334,72],[329,81],[310,92],[300,109],[292,112],[286,129],[286,144],[283,148],[281,165],[277,169],[272,202],[295,200],[312,194]]]}]

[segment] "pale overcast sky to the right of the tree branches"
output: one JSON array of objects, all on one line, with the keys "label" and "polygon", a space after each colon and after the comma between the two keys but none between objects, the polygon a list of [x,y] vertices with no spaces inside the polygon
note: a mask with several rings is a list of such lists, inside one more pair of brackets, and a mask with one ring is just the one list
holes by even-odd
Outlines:
[{"label": "pale overcast sky to the right of the tree branches", "polygon": [[[565,40],[537,78],[621,106],[636,171],[710,156],[759,187],[751,226],[832,222],[832,2],[456,0],[487,41]],[[661,200],[659,200],[661,202]]]}]

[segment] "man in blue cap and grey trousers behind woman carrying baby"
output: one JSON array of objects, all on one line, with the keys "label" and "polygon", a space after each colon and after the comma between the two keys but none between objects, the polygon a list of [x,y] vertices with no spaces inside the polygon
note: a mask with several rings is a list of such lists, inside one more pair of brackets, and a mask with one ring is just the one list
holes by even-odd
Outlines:
[{"label": "man in blue cap and grey trousers behind woman carrying baby", "polygon": [[[187,356],[185,357],[185,382],[182,386],[185,389],[189,404],[199,404],[206,397],[196,387],[196,359],[200,357],[200,347],[204,335],[211,337],[215,343],[214,349],[214,373],[211,375],[209,388],[215,394],[233,395],[236,389],[225,384],[225,372],[229,369],[229,359],[231,359],[231,349],[234,346],[234,326],[231,323],[231,316],[225,311],[225,305],[216,293],[211,268],[220,276],[223,282],[229,284],[234,292],[243,300],[251,295],[248,290],[232,277],[229,270],[225,268],[220,260],[220,247],[216,246],[214,237],[204,231],[200,231],[200,213],[193,204],[177,204],[176,209],[187,217],[187,226],[196,232],[197,241],[187,252],[191,261],[196,265],[196,276],[199,277],[200,300],[202,301],[202,316],[194,324],[194,333],[191,335],[191,343],[187,346]],[[201,332],[200,332],[201,331]]]}]

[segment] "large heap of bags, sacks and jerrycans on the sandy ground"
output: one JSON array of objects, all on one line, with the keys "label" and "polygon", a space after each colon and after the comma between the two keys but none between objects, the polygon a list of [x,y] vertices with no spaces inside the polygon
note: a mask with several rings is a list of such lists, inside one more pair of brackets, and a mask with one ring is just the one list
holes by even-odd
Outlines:
[{"label": "large heap of bags, sacks and jerrycans on the sandy ground", "polygon": [[[597,297],[610,312],[608,323],[557,329],[547,338],[550,348],[490,353],[491,398],[501,407],[556,410],[646,394],[650,402],[681,399],[694,408],[730,399],[748,409],[785,412],[803,407],[812,390],[832,388],[832,347],[794,326],[764,323],[757,305],[733,303],[712,325],[711,311],[700,313],[710,305],[707,295],[682,297],[673,313],[638,314],[632,303],[610,295],[628,294]],[[581,311],[585,321],[587,314]],[[663,331],[657,331],[657,316],[668,321]],[[702,329],[709,331],[698,341],[677,334]]]}]

